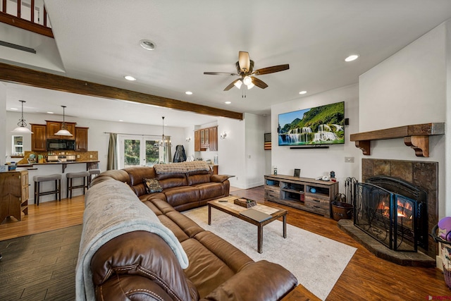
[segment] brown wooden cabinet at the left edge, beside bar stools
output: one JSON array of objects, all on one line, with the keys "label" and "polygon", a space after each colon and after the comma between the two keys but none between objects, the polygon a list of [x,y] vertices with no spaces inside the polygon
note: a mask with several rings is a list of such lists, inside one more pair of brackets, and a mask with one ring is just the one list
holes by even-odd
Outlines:
[{"label": "brown wooden cabinet at the left edge, beside bar stools", "polygon": [[28,214],[28,171],[0,173],[0,223],[8,216]]}]

